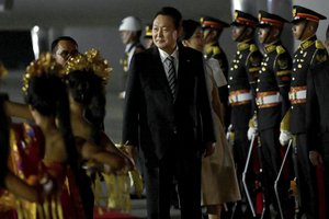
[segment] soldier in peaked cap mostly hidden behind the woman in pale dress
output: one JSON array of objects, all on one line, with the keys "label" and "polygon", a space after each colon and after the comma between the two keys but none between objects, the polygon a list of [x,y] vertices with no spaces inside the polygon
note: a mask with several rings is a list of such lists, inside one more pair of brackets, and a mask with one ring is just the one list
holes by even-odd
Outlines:
[{"label": "soldier in peaked cap mostly hidden behind the woman in pale dress", "polygon": [[[223,30],[229,27],[229,24],[211,16],[201,18],[200,23],[203,28],[203,38],[205,41],[204,56],[205,58],[213,57],[218,60],[220,69],[227,80],[228,60],[226,54],[219,46],[219,37],[222,35]],[[230,110],[228,107],[228,89],[227,85],[220,87],[218,89],[219,89],[220,102],[224,104],[225,127],[227,128],[230,124],[229,122]]]}]

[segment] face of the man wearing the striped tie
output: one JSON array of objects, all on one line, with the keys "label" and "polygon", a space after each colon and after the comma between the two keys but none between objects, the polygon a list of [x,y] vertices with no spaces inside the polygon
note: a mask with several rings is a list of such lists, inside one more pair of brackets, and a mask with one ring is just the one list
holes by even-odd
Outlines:
[{"label": "face of the man wearing the striped tie", "polygon": [[174,26],[173,19],[171,16],[159,14],[154,20],[154,43],[158,48],[168,54],[171,54],[175,48],[178,32],[179,30]]}]

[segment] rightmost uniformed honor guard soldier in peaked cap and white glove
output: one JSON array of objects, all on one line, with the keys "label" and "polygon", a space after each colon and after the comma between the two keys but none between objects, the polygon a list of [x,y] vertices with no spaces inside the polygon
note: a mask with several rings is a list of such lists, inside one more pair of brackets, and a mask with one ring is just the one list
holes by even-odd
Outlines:
[{"label": "rightmost uniformed honor guard soldier in peaked cap and white glove", "polygon": [[[300,45],[293,55],[293,72],[290,91],[291,106],[291,126],[288,130],[281,130],[281,140],[288,139],[294,135],[297,158],[298,158],[298,187],[300,191],[302,210],[307,218],[318,218],[317,191],[316,191],[316,171],[311,166],[308,152],[310,145],[306,138],[306,93],[307,74],[309,68],[317,66],[328,59],[328,54],[322,43],[317,39],[316,31],[320,20],[326,16],[299,7],[293,7],[293,34]],[[316,142],[314,142],[316,143]]]}]

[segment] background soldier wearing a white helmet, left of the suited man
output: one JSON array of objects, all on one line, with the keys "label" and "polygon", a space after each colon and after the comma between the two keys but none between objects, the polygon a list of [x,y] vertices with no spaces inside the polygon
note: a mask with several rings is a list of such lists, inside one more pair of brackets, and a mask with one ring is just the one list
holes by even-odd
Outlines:
[{"label": "background soldier wearing a white helmet, left of the suited man", "polygon": [[139,42],[141,35],[141,22],[138,18],[125,18],[124,20],[122,20],[118,31],[121,34],[122,43],[126,46],[124,58],[120,60],[123,67],[123,84],[122,92],[118,94],[118,97],[124,99],[131,60],[134,54],[143,51],[145,50],[145,48]]}]

